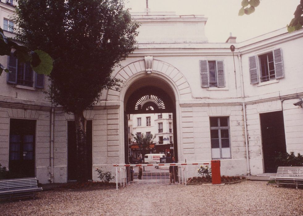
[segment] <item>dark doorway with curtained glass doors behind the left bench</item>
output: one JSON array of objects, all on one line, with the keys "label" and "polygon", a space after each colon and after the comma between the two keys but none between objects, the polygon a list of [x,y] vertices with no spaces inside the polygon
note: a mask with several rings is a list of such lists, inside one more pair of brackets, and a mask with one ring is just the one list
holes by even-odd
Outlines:
[{"label": "dark doorway with curtained glass doors behind the left bench", "polygon": [[18,178],[35,177],[36,120],[11,119],[9,169]]}]

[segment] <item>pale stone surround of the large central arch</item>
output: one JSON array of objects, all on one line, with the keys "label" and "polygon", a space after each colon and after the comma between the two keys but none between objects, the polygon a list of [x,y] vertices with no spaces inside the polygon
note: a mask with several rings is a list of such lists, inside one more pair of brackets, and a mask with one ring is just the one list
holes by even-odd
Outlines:
[{"label": "pale stone surround of the large central arch", "polygon": [[[121,119],[121,124],[119,126],[119,131],[123,132],[119,135],[120,140],[120,162],[126,162],[128,158],[128,152],[125,149],[125,143],[123,141],[127,138],[127,114],[126,106],[131,95],[140,88],[158,88],[166,94],[167,98],[170,98],[170,109],[173,110],[173,133],[174,141],[176,141],[176,148],[179,152],[176,152],[176,157],[182,155],[181,144],[181,111],[179,106],[180,100],[188,100],[192,98],[192,92],[190,85],[188,84],[186,78],[183,74],[175,68],[173,65],[163,62],[161,60],[153,60],[153,67],[148,71],[145,68],[145,60],[137,60],[126,66],[124,66],[115,77],[123,81],[120,86],[120,91],[113,89],[108,89],[106,94],[106,104],[117,104],[119,102],[119,115]],[[150,73],[151,72],[151,73]],[[153,94],[153,90],[150,90],[150,94]],[[150,95],[149,94],[149,95]],[[180,157],[181,159],[181,157]]]}]

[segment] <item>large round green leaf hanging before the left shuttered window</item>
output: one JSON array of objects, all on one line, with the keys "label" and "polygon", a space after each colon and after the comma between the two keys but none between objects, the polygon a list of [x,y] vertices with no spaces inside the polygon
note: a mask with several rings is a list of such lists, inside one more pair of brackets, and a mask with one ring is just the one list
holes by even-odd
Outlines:
[{"label": "large round green leaf hanging before the left shuttered window", "polygon": [[41,62],[36,67],[34,67],[34,65],[31,62],[32,69],[36,73],[49,75],[53,70],[53,59],[46,52],[42,50],[35,50],[34,52],[39,56]]}]

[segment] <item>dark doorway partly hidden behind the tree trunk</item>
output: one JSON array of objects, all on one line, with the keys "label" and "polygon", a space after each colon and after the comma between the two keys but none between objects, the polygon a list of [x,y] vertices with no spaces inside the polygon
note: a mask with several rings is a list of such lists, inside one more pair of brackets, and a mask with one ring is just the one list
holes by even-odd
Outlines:
[{"label": "dark doorway partly hidden behind the tree trunk", "polygon": [[[77,180],[77,144],[76,144],[76,126],[74,121],[67,122],[67,180],[75,181]],[[92,179],[92,121],[88,120],[86,123],[86,142],[87,142],[87,180]]]}]

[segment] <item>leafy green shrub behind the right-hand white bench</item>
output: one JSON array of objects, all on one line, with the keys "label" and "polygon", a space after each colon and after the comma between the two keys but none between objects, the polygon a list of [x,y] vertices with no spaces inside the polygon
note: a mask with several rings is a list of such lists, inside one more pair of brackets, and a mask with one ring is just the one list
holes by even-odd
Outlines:
[{"label": "leafy green shrub behind the right-hand white bench", "polygon": [[279,166],[284,167],[300,167],[303,166],[303,156],[298,153],[297,156],[295,156],[294,152],[289,153],[281,153],[279,152],[277,156],[275,157],[275,163],[277,164],[277,168]]}]

